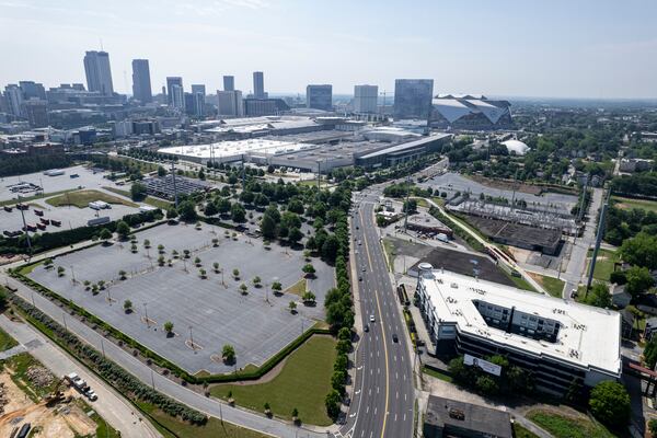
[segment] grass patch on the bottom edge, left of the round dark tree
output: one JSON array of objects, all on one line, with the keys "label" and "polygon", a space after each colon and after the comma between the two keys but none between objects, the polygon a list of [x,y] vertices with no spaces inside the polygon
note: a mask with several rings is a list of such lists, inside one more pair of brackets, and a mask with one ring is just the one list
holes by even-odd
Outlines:
[{"label": "grass patch on the bottom edge, left of the round dark tree", "polygon": [[560,415],[548,411],[531,411],[531,419],[555,438],[614,438],[607,428],[581,414],[579,416]]}]

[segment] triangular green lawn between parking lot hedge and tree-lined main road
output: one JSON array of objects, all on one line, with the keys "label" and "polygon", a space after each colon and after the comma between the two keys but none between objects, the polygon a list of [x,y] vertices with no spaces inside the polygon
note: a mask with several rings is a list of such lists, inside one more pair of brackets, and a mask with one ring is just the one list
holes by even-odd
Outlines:
[{"label": "triangular green lawn between parking lot hedge and tree-lined main road", "polygon": [[220,384],[210,391],[214,396],[227,399],[232,391],[235,403],[263,412],[269,403],[277,417],[291,419],[299,410],[303,423],[319,426],[333,424],[326,415],[324,397],[331,391],[331,374],[335,361],[335,341],[330,336],[312,336],[286,360],[274,379],[261,384]]}]

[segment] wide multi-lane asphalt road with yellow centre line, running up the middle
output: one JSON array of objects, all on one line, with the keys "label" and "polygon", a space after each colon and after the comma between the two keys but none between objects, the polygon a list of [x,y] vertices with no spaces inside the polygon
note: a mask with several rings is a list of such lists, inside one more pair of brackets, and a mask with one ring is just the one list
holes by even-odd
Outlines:
[{"label": "wide multi-lane asphalt road with yellow centre line, running up the middle", "polygon": [[376,191],[361,193],[351,218],[360,339],[347,423],[336,434],[338,437],[414,435],[413,356],[374,222],[377,200]]}]

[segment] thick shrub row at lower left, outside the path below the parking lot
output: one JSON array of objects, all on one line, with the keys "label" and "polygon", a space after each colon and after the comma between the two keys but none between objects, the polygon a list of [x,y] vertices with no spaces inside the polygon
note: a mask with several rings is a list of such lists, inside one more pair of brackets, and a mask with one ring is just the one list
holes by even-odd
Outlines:
[{"label": "thick shrub row at lower left, outside the path below the parking lot", "polygon": [[92,367],[103,379],[112,384],[132,401],[152,403],[162,412],[173,417],[180,417],[192,424],[201,425],[207,422],[207,416],[180,403],[151,387],[142,383],[135,376],[103,357],[101,353],[88,344],[82,343],[76,335],[67,331],[50,316],[36,309],[15,293],[10,296],[11,302],[18,307],[33,324],[39,327],[48,337],[62,345],[78,359]]}]

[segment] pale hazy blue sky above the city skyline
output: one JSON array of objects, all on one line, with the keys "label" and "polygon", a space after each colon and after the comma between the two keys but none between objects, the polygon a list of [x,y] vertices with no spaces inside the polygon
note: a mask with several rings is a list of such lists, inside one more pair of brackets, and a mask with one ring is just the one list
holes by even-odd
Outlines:
[{"label": "pale hazy blue sky above the city skyline", "polygon": [[0,0],[0,84],[84,82],[102,38],[118,92],[148,58],[154,92],[222,74],[249,92],[263,70],[269,92],[433,78],[435,93],[657,97],[656,16],[655,0]]}]

